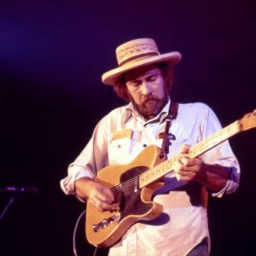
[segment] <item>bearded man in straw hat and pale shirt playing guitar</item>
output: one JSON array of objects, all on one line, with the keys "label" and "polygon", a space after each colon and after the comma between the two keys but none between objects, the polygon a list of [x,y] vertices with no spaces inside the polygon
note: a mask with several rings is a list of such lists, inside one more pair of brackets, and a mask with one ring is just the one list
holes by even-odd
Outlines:
[{"label": "bearded man in straw hat and pale shirt playing guitar", "polygon": [[[102,82],[130,103],[99,122],[61,180],[67,195],[88,199],[103,212],[119,207],[113,191],[95,181],[104,166],[130,163],[149,145],[164,149],[170,159],[188,153],[189,146],[221,129],[216,115],[203,103],[173,108],[169,92],[180,53],[161,55],[153,39],[139,38],[121,44],[116,55],[119,67],[104,73]],[[226,141],[199,157],[183,154],[172,169],[174,173],[164,177],[165,185],[154,191],[153,200],[163,206],[163,212],[131,225],[110,248],[110,255],[209,255],[207,192],[221,197],[238,188],[236,157]]]}]

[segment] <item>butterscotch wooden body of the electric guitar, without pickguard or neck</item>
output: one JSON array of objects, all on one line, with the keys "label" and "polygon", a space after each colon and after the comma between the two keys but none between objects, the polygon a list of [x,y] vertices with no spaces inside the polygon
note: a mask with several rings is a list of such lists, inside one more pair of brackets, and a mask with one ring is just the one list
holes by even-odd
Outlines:
[{"label": "butterscotch wooden body of the electric guitar, without pickguard or neck", "polygon": [[159,151],[159,148],[149,146],[128,165],[110,165],[98,173],[97,181],[108,188],[119,188],[122,183],[126,188],[115,193],[118,197],[116,201],[119,202],[118,211],[101,212],[87,201],[85,229],[90,244],[108,247],[118,241],[132,224],[139,220],[154,219],[163,211],[162,206],[151,201],[154,190],[160,188],[162,183],[153,183],[140,189],[138,180],[133,179],[161,162]]}]

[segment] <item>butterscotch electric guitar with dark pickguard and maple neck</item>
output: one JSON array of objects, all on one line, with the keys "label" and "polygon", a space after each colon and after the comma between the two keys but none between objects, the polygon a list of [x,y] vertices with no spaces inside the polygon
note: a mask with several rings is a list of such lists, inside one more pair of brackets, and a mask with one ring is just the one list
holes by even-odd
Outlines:
[{"label": "butterscotch electric guitar with dark pickguard and maple neck", "polygon": [[[195,158],[236,133],[255,127],[256,110],[196,143],[185,155]],[[182,156],[183,154],[177,154],[169,160],[163,160],[160,158],[160,148],[151,145],[143,149],[131,163],[110,165],[98,172],[96,181],[113,191],[119,207],[113,212],[101,212],[87,201],[85,233],[90,244],[109,247],[118,241],[132,224],[158,217],[163,207],[152,201],[152,194],[163,185],[160,183],[161,178],[173,172],[173,163]]]}]

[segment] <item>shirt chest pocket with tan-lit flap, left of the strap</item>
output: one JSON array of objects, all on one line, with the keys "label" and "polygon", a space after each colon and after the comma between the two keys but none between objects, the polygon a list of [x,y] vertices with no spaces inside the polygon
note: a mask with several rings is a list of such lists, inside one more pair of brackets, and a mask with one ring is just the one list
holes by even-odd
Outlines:
[{"label": "shirt chest pocket with tan-lit flap, left of the strap", "polygon": [[132,157],[132,134],[131,129],[113,131],[112,138],[108,144],[109,164],[127,164]]}]

